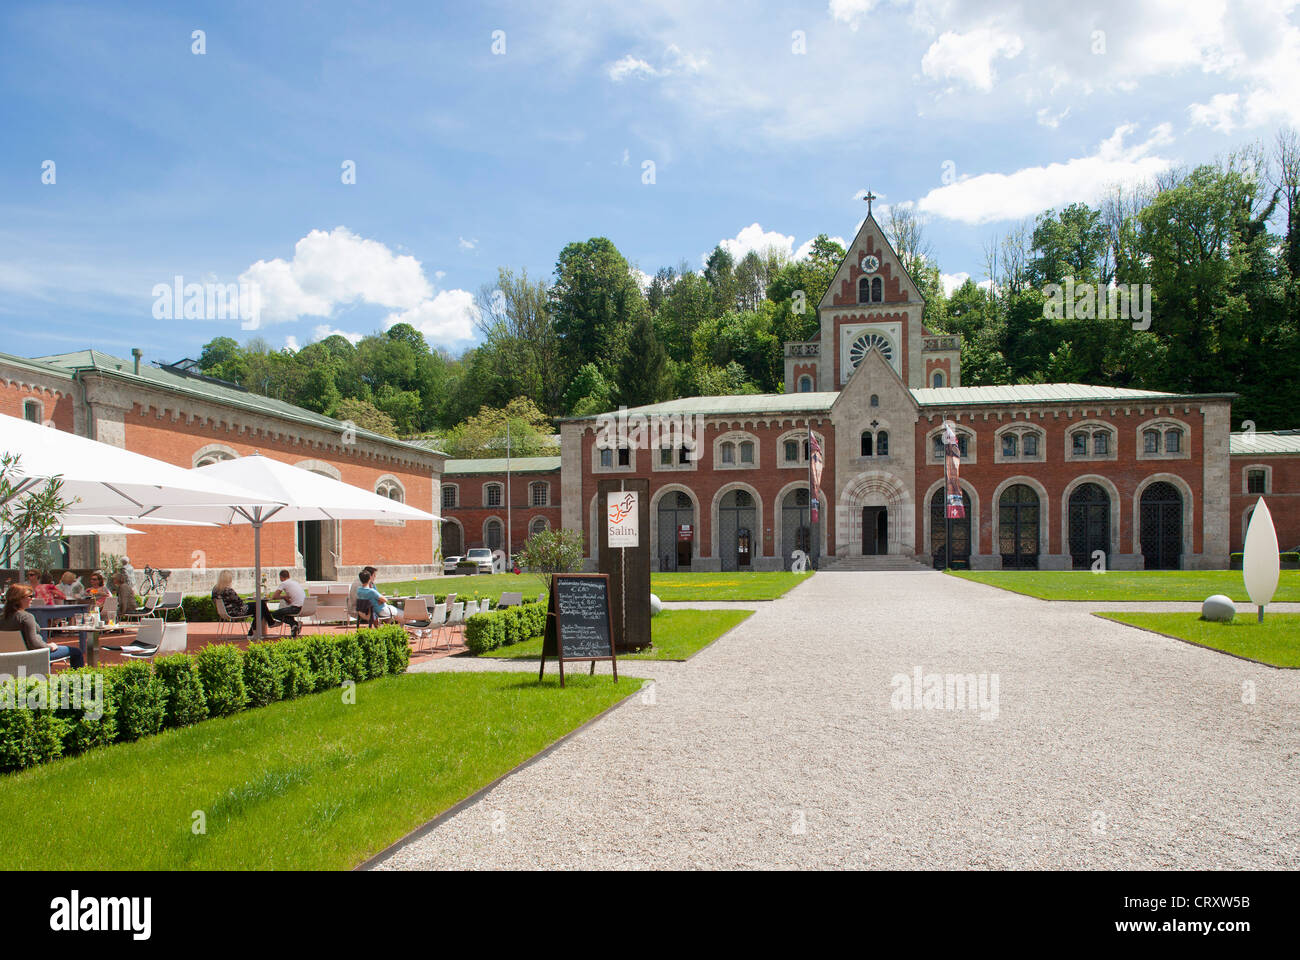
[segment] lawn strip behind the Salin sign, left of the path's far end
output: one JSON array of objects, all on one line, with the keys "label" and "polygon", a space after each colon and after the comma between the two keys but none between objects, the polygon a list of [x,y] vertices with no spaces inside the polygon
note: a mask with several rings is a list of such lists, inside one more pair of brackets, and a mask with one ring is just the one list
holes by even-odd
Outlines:
[{"label": "lawn strip behind the Salin sign, left of the path's far end", "polygon": [[[651,574],[650,589],[663,601],[698,600],[776,600],[803,583],[812,574],[762,571],[744,574]],[[546,592],[541,578],[533,574],[478,574],[474,576],[437,576],[432,580],[404,580],[380,584],[381,593],[456,593],[465,600],[500,598],[503,592],[521,592],[525,600]]]}]

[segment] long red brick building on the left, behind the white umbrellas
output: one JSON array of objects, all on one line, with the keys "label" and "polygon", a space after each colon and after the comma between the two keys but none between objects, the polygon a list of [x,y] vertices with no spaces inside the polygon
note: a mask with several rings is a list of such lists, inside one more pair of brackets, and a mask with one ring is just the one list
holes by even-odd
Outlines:
[{"label": "long red brick building on the left, behind the white umbrellas", "polygon": [[[0,355],[0,412],[113,444],[181,467],[261,453],[438,513],[442,454],[203,377],[94,350],[23,359]],[[169,585],[209,589],[230,568],[251,585],[247,527],[148,527],[140,536],[72,537],[64,566],[94,567],[103,553],[173,571]],[[351,579],[367,563],[384,579],[441,572],[433,522],[269,523],[264,568],[300,579]],[[3,565],[3,563],[0,563]]]}]

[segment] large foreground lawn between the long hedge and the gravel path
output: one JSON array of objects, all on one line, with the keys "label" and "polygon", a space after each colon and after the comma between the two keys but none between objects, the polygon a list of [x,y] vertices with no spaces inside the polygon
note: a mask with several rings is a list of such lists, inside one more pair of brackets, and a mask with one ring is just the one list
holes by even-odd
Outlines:
[{"label": "large foreground lawn between the long hedge and the gravel path", "polygon": [[640,687],[407,674],[57,760],[0,777],[0,869],[347,869]]}]

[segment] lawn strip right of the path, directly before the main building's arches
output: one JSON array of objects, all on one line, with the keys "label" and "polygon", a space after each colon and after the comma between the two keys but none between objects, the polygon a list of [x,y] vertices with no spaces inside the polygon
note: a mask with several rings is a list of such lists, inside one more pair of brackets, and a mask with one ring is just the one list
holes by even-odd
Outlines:
[{"label": "lawn strip right of the path, directly before the main building's arches", "polygon": [[[954,570],[950,576],[987,583],[1040,600],[1187,601],[1223,593],[1244,602],[1240,570]],[[1274,602],[1300,602],[1300,570],[1283,570]]]}]

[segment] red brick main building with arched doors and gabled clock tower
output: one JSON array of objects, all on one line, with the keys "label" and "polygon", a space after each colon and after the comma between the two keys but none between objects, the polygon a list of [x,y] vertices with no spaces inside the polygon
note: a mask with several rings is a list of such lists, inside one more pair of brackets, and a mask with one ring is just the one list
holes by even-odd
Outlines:
[{"label": "red brick main building with arched doors and gabled clock tower", "polygon": [[[962,386],[961,338],[922,324],[924,299],[868,213],[818,306],[786,343],[788,393],[692,397],[562,424],[563,523],[598,520],[597,483],[650,483],[656,568],[789,567],[796,549],[846,562],[941,565],[942,421],[962,447],[971,567],[1226,567],[1266,496],[1300,542],[1300,436],[1231,434],[1232,394],[1036,384]],[[809,432],[824,450],[810,523]],[[1247,447],[1249,440],[1253,446]],[[1257,490],[1257,492],[1256,492]]]}]

